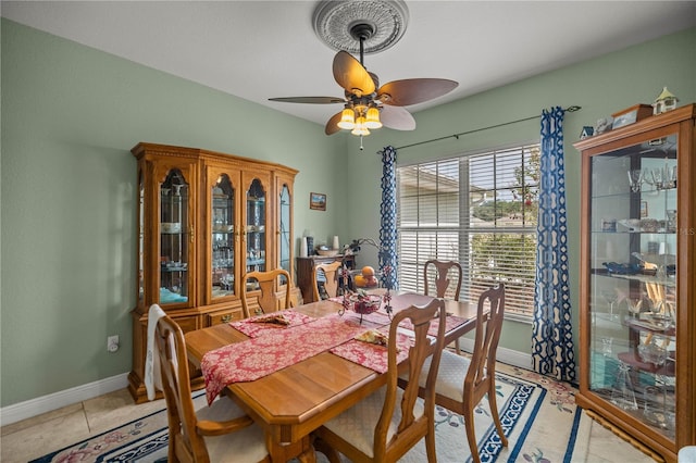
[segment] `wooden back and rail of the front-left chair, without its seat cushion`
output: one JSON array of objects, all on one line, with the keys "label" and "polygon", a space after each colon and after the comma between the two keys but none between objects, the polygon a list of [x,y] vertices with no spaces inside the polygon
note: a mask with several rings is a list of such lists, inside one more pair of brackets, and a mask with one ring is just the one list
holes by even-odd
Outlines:
[{"label": "wooden back and rail of the front-left chair, without its seat cushion", "polygon": [[221,423],[199,421],[191,399],[186,341],[182,328],[169,316],[162,316],[154,329],[154,345],[166,402],[170,434],[167,461],[210,462],[204,435],[235,433],[253,422],[246,415]]}]

